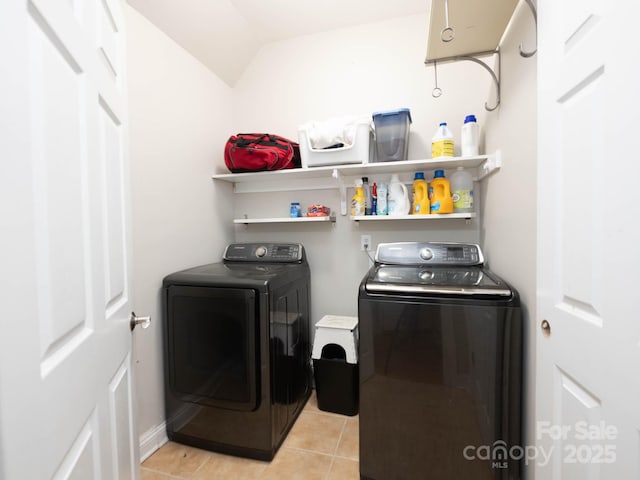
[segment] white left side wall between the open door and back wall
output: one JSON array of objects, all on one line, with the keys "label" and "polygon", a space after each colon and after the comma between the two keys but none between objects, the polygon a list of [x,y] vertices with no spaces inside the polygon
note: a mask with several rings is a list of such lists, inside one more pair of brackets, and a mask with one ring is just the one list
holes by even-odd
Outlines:
[{"label": "white left side wall between the open door and back wall", "polygon": [[165,436],[160,287],[168,273],[220,259],[232,237],[229,189],[211,173],[231,117],[230,89],[127,7],[138,431],[144,458]]}]

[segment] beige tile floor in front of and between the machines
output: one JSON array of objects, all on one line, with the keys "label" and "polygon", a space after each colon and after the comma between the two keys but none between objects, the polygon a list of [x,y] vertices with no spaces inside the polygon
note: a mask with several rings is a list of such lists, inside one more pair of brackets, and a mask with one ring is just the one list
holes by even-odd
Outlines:
[{"label": "beige tile floor in front of and between the machines", "polygon": [[319,410],[315,392],[271,462],[169,442],[142,464],[142,480],[359,478],[358,416],[347,417]]}]

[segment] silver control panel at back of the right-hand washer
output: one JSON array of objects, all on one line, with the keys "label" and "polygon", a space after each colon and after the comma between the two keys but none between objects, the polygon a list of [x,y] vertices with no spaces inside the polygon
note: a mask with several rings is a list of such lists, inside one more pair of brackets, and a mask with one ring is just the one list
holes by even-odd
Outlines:
[{"label": "silver control panel at back of the right-hand washer", "polygon": [[482,265],[484,257],[477,244],[451,242],[381,243],[376,263],[389,265]]}]

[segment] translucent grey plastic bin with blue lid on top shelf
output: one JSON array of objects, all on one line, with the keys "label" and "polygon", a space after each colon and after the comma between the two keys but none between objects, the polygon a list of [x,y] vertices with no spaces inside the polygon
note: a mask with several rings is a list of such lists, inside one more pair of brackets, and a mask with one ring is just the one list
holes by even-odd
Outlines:
[{"label": "translucent grey plastic bin with blue lid on top shelf", "polygon": [[406,160],[411,124],[409,109],[376,112],[373,114],[373,123],[376,129],[376,161]]}]

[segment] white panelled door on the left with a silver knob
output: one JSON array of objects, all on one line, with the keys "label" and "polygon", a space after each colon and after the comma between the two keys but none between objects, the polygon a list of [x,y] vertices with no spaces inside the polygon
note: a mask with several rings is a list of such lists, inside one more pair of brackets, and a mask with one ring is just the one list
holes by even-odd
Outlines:
[{"label": "white panelled door on the left with a silver knob", "polygon": [[0,6],[0,478],[138,478],[121,0]]}]

